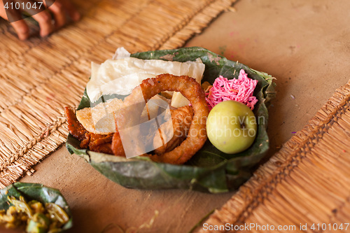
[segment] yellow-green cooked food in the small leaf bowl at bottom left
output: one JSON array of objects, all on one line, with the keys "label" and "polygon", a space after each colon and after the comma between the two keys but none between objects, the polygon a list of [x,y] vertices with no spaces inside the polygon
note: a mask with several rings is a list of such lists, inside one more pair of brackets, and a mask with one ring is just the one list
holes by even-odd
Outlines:
[{"label": "yellow-green cooked food in the small leaf bowl at bottom left", "polygon": [[25,227],[28,233],[61,232],[69,221],[68,214],[54,203],[26,202],[23,197],[8,197],[8,202],[12,204],[8,210],[0,211],[0,223],[8,229]]}]

